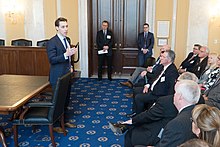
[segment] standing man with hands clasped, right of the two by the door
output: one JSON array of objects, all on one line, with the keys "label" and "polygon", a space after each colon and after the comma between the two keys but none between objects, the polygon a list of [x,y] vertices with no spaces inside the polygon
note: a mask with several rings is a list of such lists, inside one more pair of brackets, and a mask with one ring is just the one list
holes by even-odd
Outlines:
[{"label": "standing man with hands clasped, right of the two by the door", "polygon": [[147,58],[152,56],[154,34],[149,32],[149,24],[144,23],[144,32],[138,34],[138,65],[144,67]]}]

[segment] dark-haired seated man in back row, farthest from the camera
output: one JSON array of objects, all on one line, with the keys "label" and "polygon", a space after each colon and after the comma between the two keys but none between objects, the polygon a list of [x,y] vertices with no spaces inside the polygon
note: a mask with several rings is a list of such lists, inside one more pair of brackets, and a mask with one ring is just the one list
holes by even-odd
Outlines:
[{"label": "dark-haired seated man in back row, farthest from the camera", "polygon": [[199,49],[201,45],[194,44],[193,51],[188,54],[186,59],[180,64],[178,69],[179,73],[186,72],[187,70],[191,70],[191,68],[195,65],[198,60]]}]

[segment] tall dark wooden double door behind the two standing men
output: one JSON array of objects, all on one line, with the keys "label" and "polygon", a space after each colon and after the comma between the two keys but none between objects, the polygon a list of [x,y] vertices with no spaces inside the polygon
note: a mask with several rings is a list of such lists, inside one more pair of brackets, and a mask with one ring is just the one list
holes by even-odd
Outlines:
[{"label": "tall dark wooden double door behind the two standing men", "polygon": [[114,36],[113,75],[130,74],[138,65],[137,37],[146,20],[146,0],[92,0],[88,4],[90,76],[98,73],[96,33],[103,20],[109,22]]}]

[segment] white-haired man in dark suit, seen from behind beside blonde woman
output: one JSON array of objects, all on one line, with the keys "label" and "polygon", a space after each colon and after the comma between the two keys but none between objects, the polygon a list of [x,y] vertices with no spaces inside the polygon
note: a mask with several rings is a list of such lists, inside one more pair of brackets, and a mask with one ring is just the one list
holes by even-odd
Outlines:
[{"label": "white-haired man in dark suit, seen from behind beside blonde woman", "polygon": [[161,130],[162,136],[156,147],[176,147],[196,137],[190,118],[200,94],[199,85],[194,81],[182,80],[175,85],[174,105],[179,114]]}]

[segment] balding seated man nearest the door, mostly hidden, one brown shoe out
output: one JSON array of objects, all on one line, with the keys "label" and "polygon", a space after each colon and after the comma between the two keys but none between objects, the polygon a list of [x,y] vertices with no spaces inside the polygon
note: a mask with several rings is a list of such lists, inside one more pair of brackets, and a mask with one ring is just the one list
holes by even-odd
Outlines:
[{"label": "balding seated man nearest the door, mostly hidden, one brown shoe out", "polygon": [[[160,54],[165,52],[166,50],[170,50],[169,45],[162,46],[162,48],[160,48]],[[133,72],[132,76],[128,79],[128,81],[121,82],[120,84],[132,88],[133,85],[135,85],[140,79],[142,79],[146,75],[147,72],[152,73],[157,68],[159,63],[160,63],[160,57],[158,57],[156,63],[153,66],[148,66],[147,68],[137,67],[135,71]],[[145,72],[141,74],[143,71]]]}]

